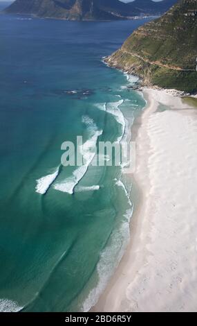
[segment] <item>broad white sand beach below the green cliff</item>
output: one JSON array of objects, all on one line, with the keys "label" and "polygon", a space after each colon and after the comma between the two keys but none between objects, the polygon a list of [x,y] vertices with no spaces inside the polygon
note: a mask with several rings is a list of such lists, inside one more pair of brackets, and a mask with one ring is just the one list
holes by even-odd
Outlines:
[{"label": "broad white sand beach below the green cliff", "polygon": [[[197,311],[197,109],[161,90],[144,96],[134,175],[140,209],[93,311]],[[171,110],[156,111],[159,103]]]}]

